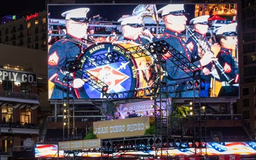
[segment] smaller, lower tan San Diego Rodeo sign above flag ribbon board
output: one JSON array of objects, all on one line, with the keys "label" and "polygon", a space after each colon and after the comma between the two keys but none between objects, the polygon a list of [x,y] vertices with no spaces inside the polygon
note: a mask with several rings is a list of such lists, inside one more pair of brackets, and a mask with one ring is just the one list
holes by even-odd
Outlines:
[{"label": "smaller, lower tan San Diego Rodeo sign above flag ribbon board", "polygon": [[97,148],[100,148],[100,139],[59,142],[60,151],[77,150],[77,149],[97,149]]}]

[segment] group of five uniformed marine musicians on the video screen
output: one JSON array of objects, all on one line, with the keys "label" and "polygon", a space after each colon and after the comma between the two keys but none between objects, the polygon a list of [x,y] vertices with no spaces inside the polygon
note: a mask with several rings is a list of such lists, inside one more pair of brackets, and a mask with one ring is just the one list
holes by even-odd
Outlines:
[{"label": "group of five uniformed marine musicians on the video screen", "polygon": [[[70,60],[75,60],[79,57],[85,48],[88,47],[87,43],[97,42],[94,35],[94,30],[91,29],[89,33],[87,19],[88,8],[73,9],[65,11],[62,16],[65,17],[66,36],[53,43],[48,53],[48,80],[53,82],[54,87],[52,94],[54,98],[58,95],[63,96],[63,78],[67,70],[63,70],[65,63]],[[214,53],[211,51],[211,46],[206,38],[208,31],[209,16],[198,16],[191,19],[190,24],[193,26],[193,35],[195,38],[184,38],[183,32],[186,30],[188,14],[183,4],[169,4],[157,11],[161,14],[166,30],[165,33],[159,37],[150,33],[149,30],[144,28],[144,18],[140,15],[122,17],[118,20],[122,29],[122,36],[117,37],[115,31],[112,35],[105,38],[105,41],[127,41],[144,45],[150,42],[166,41],[169,43],[169,52],[162,55],[166,59],[166,79],[167,85],[180,83],[181,80],[193,81],[189,75],[199,73],[201,78],[202,90],[201,97],[210,96],[210,78],[211,70],[215,68],[218,71],[222,87],[220,93],[216,96],[238,96],[238,61],[234,57],[233,50],[238,45],[236,26],[237,23],[230,23],[225,26],[220,26],[213,31],[213,40],[220,46],[219,53],[215,58]],[[100,40],[98,40],[100,41]],[[101,42],[101,41],[100,41]],[[171,60],[171,56],[180,54],[184,57],[183,62]],[[216,68],[215,61],[221,65],[223,70]],[[177,67],[184,66],[183,68]],[[186,66],[191,66],[188,68]],[[224,73],[224,74],[223,74]],[[225,75],[225,76],[224,76]],[[230,82],[227,82],[227,77]],[[73,87],[80,88],[84,85],[85,81],[81,78],[74,78]],[[193,90],[186,90],[186,92],[178,92],[178,90],[186,90],[186,85],[180,85],[177,88],[177,93],[171,95],[174,97],[193,97]],[[177,95],[178,94],[178,95]],[[131,114],[129,115],[131,116]]]}]

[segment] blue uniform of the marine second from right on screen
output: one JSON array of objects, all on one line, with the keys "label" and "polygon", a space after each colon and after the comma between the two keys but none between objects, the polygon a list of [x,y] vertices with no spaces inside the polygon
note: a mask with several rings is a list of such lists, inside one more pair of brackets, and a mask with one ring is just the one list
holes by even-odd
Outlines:
[{"label": "blue uniform of the marine second from right on screen", "polygon": [[[195,32],[195,36],[201,40],[204,41],[207,44],[207,47],[210,49],[210,44],[208,43],[208,38],[206,35],[202,35],[201,33]],[[191,62],[196,62],[197,60],[200,60],[201,57],[198,55],[198,46],[196,44],[196,41],[193,40],[192,37],[188,38],[187,41],[188,46],[191,46]],[[211,70],[213,67],[213,63],[209,63],[204,68],[208,68],[208,70]],[[210,75],[203,75],[203,72],[201,73],[201,97],[209,97],[210,93]]]}]

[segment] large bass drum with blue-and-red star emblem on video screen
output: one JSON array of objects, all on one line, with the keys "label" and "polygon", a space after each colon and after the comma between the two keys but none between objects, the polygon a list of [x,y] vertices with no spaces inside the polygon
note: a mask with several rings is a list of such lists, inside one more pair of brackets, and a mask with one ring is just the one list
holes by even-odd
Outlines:
[{"label": "large bass drum with blue-and-red star emblem on video screen", "polygon": [[[140,56],[134,52],[135,43],[97,43],[86,48],[78,57],[82,64],[75,78],[81,78],[85,85],[75,89],[78,98],[101,99],[101,87],[106,86],[107,93],[127,92],[152,85],[151,64],[153,58],[142,49]],[[138,93],[129,98],[138,97]],[[117,94],[117,97],[118,94]]]}]

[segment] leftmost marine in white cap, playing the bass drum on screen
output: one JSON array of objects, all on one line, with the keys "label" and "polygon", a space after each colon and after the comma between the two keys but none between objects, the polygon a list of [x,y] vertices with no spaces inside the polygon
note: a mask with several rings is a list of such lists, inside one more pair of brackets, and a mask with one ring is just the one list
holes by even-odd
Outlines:
[{"label": "leftmost marine in white cap, playing the bass drum on screen", "polygon": [[[69,72],[67,62],[75,60],[78,55],[86,48],[85,41],[82,38],[87,36],[87,12],[88,8],[72,9],[65,11],[65,27],[67,34],[64,38],[53,43],[48,53],[48,80],[54,84],[53,92],[49,98],[59,99],[66,96],[63,92],[63,78]],[[80,88],[85,81],[75,78],[72,82],[74,88]],[[79,97],[78,97],[79,98]]]}]

